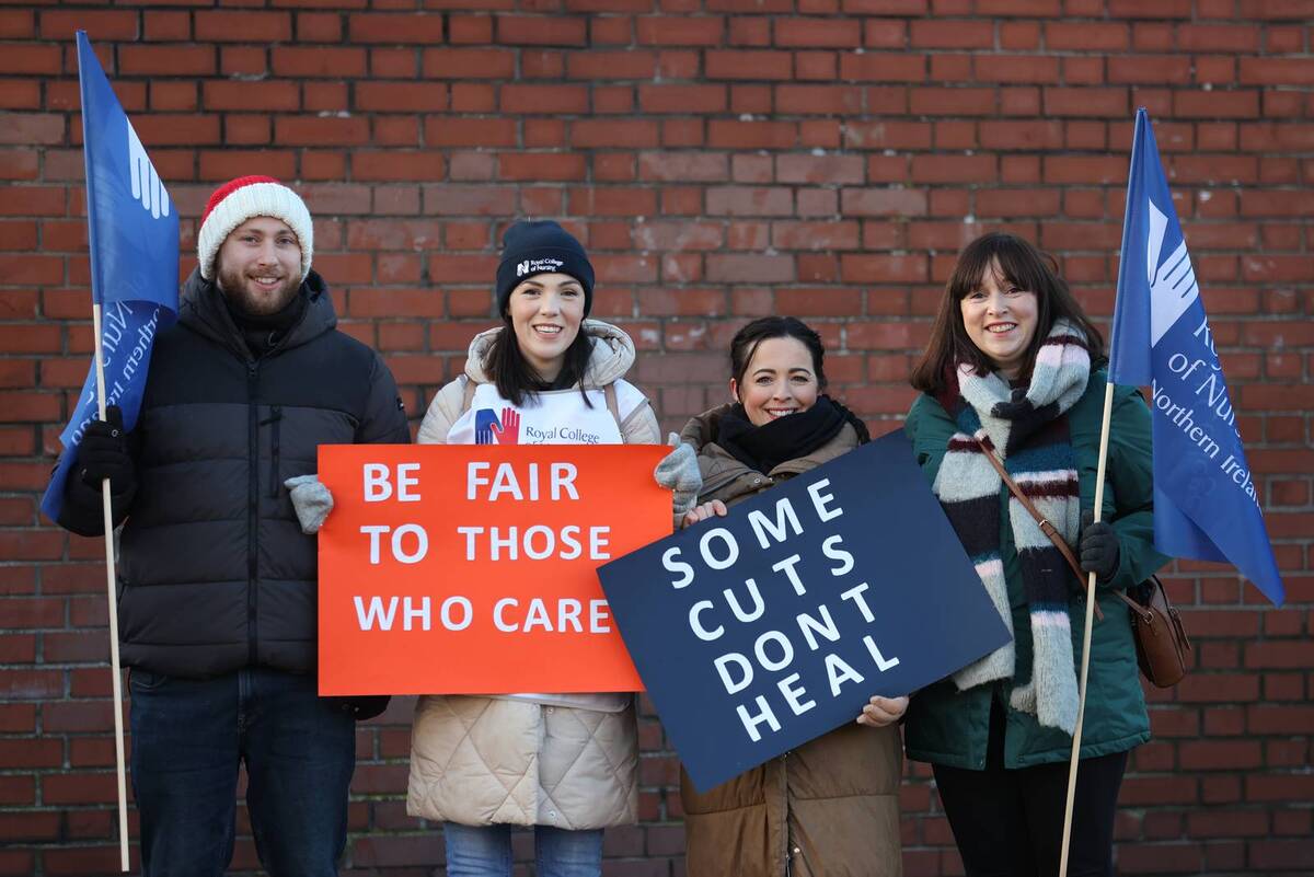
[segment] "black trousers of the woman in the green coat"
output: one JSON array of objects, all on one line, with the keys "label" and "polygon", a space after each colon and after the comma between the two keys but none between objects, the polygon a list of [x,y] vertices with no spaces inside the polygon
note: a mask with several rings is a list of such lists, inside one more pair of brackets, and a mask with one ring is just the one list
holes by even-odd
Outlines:
[{"label": "black trousers of the woman in the green coat", "polygon": [[[1068,877],[1113,877],[1113,815],[1127,754],[1081,759],[1072,802]],[[984,771],[934,765],[967,877],[1056,877],[1068,763],[1004,768],[1004,716],[991,710]]]}]

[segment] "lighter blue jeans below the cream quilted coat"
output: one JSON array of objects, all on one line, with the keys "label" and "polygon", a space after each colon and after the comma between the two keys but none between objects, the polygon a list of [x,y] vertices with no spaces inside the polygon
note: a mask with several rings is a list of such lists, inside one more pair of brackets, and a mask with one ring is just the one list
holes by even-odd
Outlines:
[{"label": "lighter blue jeans below the cream quilted coat", "polygon": [[[511,877],[511,826],[443,823],[447,877]],[[533,826],[535,877],[598,877],[602,828]]]}]

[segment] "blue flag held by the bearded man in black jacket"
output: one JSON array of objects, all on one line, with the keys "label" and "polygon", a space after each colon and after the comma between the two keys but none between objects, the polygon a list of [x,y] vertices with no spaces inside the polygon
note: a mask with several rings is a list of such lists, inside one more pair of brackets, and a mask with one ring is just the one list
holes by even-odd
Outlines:
[{"label": "blue flag held by the bearded man in black jacket", "polygon": [[[92,299],[101,306],[105,404],[137,424],[155,333],[177,316],[177,211],[124,108],[105,79],[87,34],[78,32],[87,228]],[[41,511],[55,520],[64,483],[87,424],[97,416],[96,364],[87,373],[64,446]]]}]

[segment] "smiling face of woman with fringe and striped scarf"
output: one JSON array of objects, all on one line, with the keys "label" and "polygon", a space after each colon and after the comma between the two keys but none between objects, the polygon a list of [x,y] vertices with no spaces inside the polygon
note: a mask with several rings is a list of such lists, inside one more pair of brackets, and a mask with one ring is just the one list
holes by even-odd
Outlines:
[{"label": "smiling face of woman with fringe and striped scarf", "polygon": [[1026,351],[1035,337],[1039,302],[1031,290],[1018,289],[1004,276],[999,260],[982,273],[975,289],[959,301],[963,328],[996,372],[1013,379],[1021,374]]}]

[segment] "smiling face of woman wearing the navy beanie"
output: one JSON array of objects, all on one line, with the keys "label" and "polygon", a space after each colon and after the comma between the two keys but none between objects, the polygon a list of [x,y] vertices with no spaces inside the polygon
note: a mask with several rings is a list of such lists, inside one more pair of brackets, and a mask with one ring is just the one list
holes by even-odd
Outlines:
[{"label": "smiling face of woman wearing the navy beanie", "polygon": [[535,274],[511,290],[507,314],[520,353],[544,381],[556,379],[583,322],[583,286],[570,274]]}]

